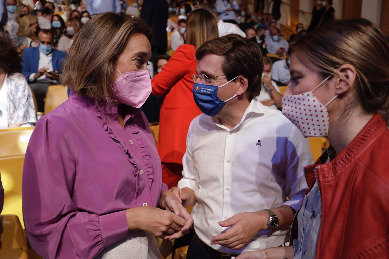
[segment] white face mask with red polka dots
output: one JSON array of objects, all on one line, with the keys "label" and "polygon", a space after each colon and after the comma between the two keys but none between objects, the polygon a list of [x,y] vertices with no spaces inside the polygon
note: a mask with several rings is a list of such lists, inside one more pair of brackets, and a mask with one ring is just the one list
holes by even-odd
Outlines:
[{"label": "white face mask with red polka dots", "polygon": [[282,97],[282,114],[300,129],[305,138],[328,136],[329,118],[326,106],[338,95],[322,105],[313,92],[331,76],[329,75],[310,92]]}]

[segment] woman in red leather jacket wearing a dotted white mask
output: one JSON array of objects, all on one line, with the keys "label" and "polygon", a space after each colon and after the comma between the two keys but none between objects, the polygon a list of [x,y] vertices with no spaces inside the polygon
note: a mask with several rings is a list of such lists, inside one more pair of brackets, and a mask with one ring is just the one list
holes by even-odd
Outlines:
[{"label": "woman in red leather jacket wearing a dotted white mask", "polygon": [[318,28],[293,45],[290,73],[282,113],[305,137],[326,137],[331,146],[305,167],[308,194],[293,246],[237,259],[389,258],[389,47],[382,32],[366,19]]}]

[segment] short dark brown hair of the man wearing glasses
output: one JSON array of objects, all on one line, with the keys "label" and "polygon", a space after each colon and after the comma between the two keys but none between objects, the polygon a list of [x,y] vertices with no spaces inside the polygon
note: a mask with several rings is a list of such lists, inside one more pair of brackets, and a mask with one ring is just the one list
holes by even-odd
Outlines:
[{"label": "short dark brown hair of the man wearing glasses", "polygon": [[205,42],[196,51],[196,59],[205,55],[223,56],[223,73],[227,80],[238,75],[247,78],[247,93],[250,97],[258,96],[261,92],[261,77],[263,71],[262,52],[256,42],[247,40],[238,34],[229,34]]}]

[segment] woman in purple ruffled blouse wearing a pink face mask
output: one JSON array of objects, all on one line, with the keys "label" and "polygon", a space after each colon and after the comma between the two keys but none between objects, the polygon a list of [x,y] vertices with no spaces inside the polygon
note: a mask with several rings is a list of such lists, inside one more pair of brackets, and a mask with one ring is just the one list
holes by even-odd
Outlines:
[{"label": "woman in purple ruffled blouse wearing a pink face mask", "polygon": [[115,13],[74,40],[62,74],[69,99],[39,119],[25,157],[26,233],[44,258],[156,259],[155,236],[181,237],[193,223],[165,191],[139,109],[151,93],[150,40],[142,19]]}]

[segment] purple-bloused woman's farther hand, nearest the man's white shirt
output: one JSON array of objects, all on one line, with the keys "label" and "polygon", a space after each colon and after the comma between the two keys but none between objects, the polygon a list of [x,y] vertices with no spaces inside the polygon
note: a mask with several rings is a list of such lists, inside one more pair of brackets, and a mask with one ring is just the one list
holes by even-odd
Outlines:
[{"label": "purple-bloused woman's farther hand, nearest the man's white shirt", "polygon": [[[176,188],[179,189],[178,187]],[[175,194],[173,194],[171,191],[164,191],[161,194],[161,201],[159,203],[159,206],[161,208],[165,208],[166,210],[173,212],[175,215],[179,217],[184,218],[186,221],[185,225],[182,227],[180,232],[174,233],[173,235],[170,236],[166,236],[165,239],[180,238],[189,232],[189,229],[193,224],[193,218],[186,210],[186,208],[182,206],[180,198],[177,198]]]}]

